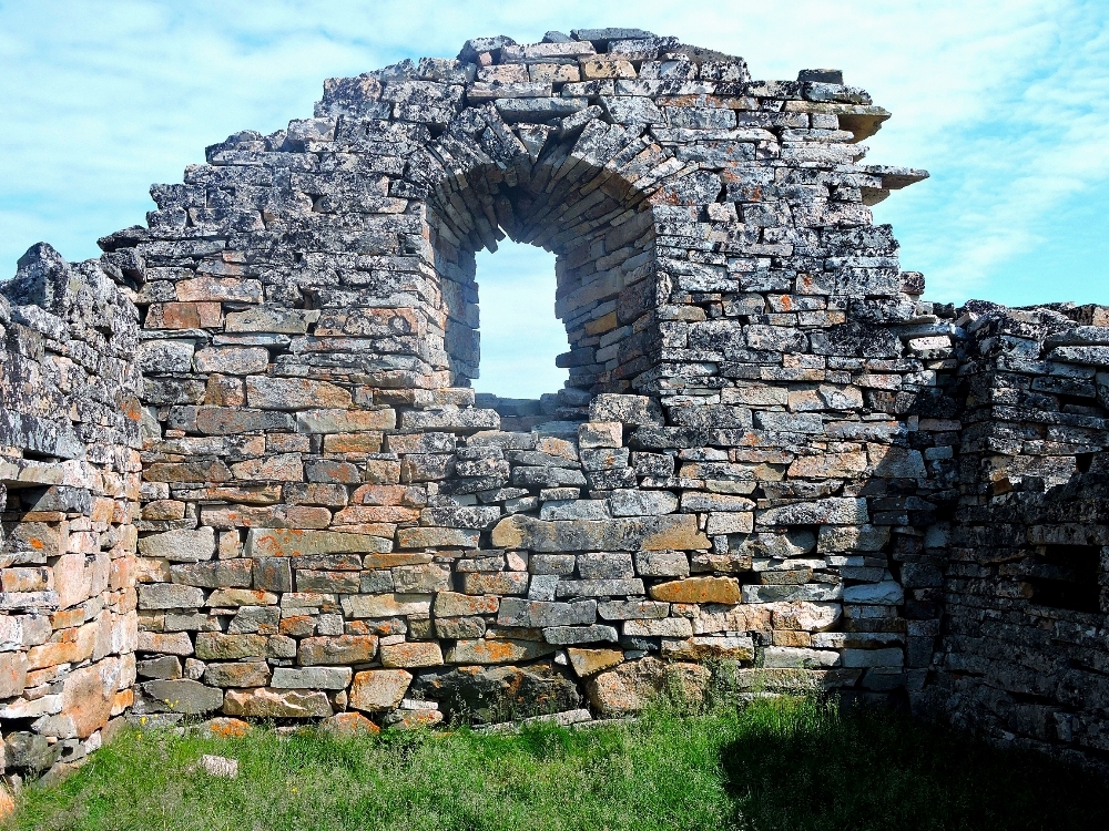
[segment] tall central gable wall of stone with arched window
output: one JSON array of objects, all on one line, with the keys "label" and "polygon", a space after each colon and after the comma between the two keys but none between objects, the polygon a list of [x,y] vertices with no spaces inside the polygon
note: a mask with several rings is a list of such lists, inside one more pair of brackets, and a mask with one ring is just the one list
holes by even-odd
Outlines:
[{"label": "tall central gable wall of stone with arched window", "polygon": [[[674,39],[487,39],[155,186],[102,240],[145,268],[136,710],[614,714],[660,659],[902,686],[944,463],[899,337],[936,318],[867,207],[926,175],[861,164],[887,115]],[[536,407],[468,387],[506,234],[557,255]]]}]

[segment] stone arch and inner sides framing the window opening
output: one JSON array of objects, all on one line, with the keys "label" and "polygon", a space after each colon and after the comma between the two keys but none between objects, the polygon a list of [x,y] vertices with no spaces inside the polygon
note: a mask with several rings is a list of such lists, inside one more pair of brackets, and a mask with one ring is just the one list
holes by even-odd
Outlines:
[{"label": "stone arch and inner sides framing the window opening", "polygon": [[[477,336],[466,300],[474,294],[468,291],[476,276],[472,255],[496,250],[508,236],[557,257],[556,314],[571,347],[560,366],[570,368],[570,384],[587,391],[620,389],[621,381],[627,386],[627,373],[606,368],[597,347],[601,336],[653,306],[642,300],[630,306],[633,295],[650,285],[655,260],[651,189],[627,175],[643,154],[659,166],[673,157],[644,141],[641,130],[597,117],[566,131],[543,124],[513,130],[490,105],[464,112],[428,148],[426,162],[439,174],[427,201],[436,270],[440,285],[461,289],[445,304],[455,383],[468,383],[476,369]],[[615,314],[621,297],[623,320]],[[631,332],[619,335],[606,343],[610,360]]]}]

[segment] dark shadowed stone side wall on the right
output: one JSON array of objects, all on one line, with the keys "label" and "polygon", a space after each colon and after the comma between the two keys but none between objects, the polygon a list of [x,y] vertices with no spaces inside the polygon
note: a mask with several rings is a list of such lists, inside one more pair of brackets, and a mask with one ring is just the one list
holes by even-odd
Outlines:
[{"label": "dark shadowed stone side wall on the right", "polygon": [[1109,312],[960,310],[962,428],[922,711],[1061,756],[1109,756]]}]

